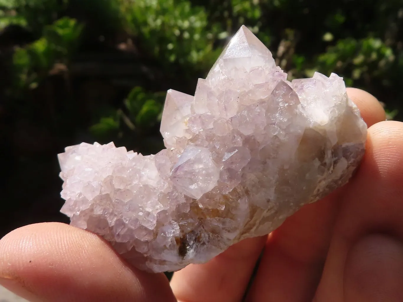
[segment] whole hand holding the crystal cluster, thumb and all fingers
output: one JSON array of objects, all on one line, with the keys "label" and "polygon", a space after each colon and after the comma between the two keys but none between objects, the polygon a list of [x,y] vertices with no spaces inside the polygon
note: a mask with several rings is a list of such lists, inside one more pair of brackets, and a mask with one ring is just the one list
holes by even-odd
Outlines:
[{"label": "whole hand holding the crystal cluster, thumb and all fingers", "polygon": [[370,126],[354,178],[269,236],[235,244],[174,274],[131,267],[100,237],[39,223],[0,240],[0,284],[30,301],[403,301],[403,123],[372,95],[348,89]]}]

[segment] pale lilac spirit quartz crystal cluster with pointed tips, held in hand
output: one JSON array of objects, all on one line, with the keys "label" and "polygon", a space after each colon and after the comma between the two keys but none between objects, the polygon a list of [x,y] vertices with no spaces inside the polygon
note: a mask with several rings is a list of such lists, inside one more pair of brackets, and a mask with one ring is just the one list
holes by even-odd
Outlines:
[{"label": "pale lilac spirit quartz crystal cluster with pointed tips, held in hand", "polygon": [[194,96],[168,91],[166,149],[82,143],[59,154],[62,213],[140,269],[178,270],[270,233],[345,184],[366,132],[341,77],[289,82],[241,27]]}]

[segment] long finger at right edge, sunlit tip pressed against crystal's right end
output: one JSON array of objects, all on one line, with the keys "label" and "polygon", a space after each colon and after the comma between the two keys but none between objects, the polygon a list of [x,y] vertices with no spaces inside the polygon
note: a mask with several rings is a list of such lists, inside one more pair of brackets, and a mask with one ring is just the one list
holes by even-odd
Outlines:
[{"label": "long finger at right edge, sunlit tip pressed against crystal's right end", "polygon": [[343,301],[347,256],[359,238],[382,232],[403,240],[402,183],[403,123],[375,124],[368,131],[361,168],[345,192],[316,293],[318,302]]}]

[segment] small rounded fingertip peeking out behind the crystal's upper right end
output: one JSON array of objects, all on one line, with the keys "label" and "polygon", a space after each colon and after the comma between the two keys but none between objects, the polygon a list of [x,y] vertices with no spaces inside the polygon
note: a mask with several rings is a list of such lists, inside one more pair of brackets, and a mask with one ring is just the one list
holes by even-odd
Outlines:
[{"label": "small rounded fingertip peeking out behind the crystal's upper right end", "polygon": [[359,108],[368,127],[386,119],[385,110],[372,94],[358,88],[347,88],[347,94]]}]

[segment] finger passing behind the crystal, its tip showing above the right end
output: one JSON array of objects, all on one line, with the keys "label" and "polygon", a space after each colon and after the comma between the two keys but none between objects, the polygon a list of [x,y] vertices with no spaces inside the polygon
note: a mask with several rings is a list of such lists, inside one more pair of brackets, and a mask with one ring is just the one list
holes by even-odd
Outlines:
[{"label": "finger passing behind the crystal, its tip showing above the right end", "polygon": [[[384,120],[384,110],[375,97],[360,89],[350,88],[347,93],[368,125]],[[269,236],[248,295],[250,301],[312,300],[343,191],[340,188],[306,205]]]}]

